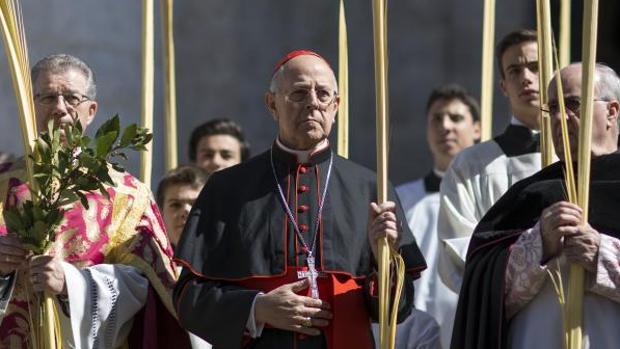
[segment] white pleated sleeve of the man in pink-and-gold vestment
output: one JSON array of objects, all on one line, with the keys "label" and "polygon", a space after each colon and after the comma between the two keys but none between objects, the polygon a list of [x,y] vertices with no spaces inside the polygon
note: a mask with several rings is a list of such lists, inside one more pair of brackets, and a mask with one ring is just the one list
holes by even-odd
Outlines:
[{"label": "white pleated sleeve of the man in pink-and-gold vestment", "polygon": [[79,349],[120,346],[134,315],[146,303],[148,279],[127,265],[98,264],[82,269],[65,262],[62,265],[70,312],[70,318],[63,319],[65,345]]}]

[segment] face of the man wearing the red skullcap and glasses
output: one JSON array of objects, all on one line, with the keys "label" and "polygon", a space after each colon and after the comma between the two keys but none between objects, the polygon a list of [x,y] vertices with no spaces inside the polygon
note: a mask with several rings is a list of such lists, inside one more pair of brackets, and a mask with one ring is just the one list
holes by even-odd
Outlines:
[{"label": "face of the man wearing the red skullcap and glasses", "polygon": [[294,149],[311,149],[329,136],[338,110],[336,79],[315,56],[299,56],[284,67],[277,91],[266,95],[278,136]]}]

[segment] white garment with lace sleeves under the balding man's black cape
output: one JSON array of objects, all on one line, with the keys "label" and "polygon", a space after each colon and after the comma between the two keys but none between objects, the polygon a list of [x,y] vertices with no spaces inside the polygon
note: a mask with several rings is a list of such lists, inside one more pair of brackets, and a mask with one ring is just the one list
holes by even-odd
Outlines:
[{"label": "white garment with lace sleeves under the balding man's black cape", "polygon": [[[512,246],[506,268],[508,345],[514,349],[562,348],[562,314],[547,269],[562,273],[568,291],[569,265],[564,257],[540,265],[539,225]],[[620,240],[601,234],[596,272],[586,271],[583,300],[583,348],[620,347]]]}]

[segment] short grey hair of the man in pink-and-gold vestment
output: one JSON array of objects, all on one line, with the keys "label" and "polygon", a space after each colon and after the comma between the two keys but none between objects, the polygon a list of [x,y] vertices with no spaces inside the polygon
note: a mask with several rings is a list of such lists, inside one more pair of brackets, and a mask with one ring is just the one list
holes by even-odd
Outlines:
[{"label": "short grey hair of the man in pink-and-gold vestment", "polygon": [[70,70],[76,70],[86,78],[86,97],[91,100],[97,98],[97,85],[95,84],[95,73],[81,59],[69,54],[54,54],[47,56],[38,61],[30,71],[32,83],[42,73],[66,73]]}]

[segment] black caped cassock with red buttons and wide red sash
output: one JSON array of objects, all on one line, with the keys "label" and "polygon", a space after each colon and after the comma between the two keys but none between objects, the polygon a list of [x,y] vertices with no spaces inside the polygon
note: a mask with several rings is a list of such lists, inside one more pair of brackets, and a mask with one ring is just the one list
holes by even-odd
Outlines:
[{"label": "black caped cassock with red buttons and wide red sash", "polygon": [[[257,339],[246,335],[254,297],[297,281],[306,253],[278,193],[278,182],[303,239],[312,244],[316,214],[326,181],[331,148],[300,164],[276,144],[245,163],[216,172],[190,212],[178,260],[184,266],[174,293],[181,323],[216,348],[372,347],[371,318],[378,313],[375,263],[368,243],[369,204],[376,201],[376,175],[333,155],[333,166],[314,251],[322,276],[320,298],[334,319],[321,336],[305,337],[267,326]],[[397,216],[405,216],[397,202]],[[413,279],[426,267],[407,224],[400,253],[407,269],[400,318],[410,312]],[[312,248],[311,248],[312,249]],[[308,292],[305,290],[303,294]]]}]

